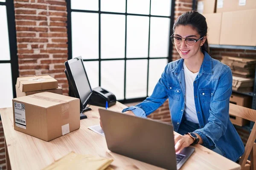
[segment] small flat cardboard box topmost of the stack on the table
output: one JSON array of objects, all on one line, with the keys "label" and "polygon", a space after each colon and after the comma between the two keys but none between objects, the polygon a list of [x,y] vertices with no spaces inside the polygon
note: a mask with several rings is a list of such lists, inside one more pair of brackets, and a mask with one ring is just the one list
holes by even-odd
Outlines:
[{"label": "small flat cardboard box topmost of the stack on the table", "polygon": [[22,92],[41,91],[58,88],[58,81],[49,75],[18,77],[16,85]]}]

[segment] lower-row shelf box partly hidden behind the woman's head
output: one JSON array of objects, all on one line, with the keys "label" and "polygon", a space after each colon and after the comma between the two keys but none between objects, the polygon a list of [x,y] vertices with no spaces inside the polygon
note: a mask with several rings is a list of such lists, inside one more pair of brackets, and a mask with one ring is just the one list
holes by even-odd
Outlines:
[{"label": "lower-row shelf box partly hidden behind the woman's head", "polygon": [[220,44],[220,34],[221,34],[221,17],[222,14],[204,14],[206,18],[208,32],[207,39],[209,44]]}]

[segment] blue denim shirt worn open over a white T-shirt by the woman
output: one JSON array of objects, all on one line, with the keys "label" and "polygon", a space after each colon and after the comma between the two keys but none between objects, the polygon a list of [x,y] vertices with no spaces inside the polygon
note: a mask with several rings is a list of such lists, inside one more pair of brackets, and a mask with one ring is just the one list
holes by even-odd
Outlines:
[{"label": "blue denim shirt worn open over a white T-shirt by the woman", "polygon": [[[136,106],[125,108],[136,116],[145,117],[159,108],[168,98],[172,125],[177,132],[185,106],[184,59],[166,65],[151,96]],[[204,52],[204,61],[194,81],[195,109],[200,128],[195,130],[203,146],[220,148],[225,157],[236,161],[244,153],[244,144],[229,119],[232,94],[231,69]]]}]

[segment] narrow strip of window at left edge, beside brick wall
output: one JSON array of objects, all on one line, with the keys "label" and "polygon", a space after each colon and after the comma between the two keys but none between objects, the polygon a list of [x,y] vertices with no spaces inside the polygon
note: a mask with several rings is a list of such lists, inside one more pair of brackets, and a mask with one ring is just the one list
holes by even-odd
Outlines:
[{"label": "narrow strip of window at left edge, beside brick wall", "polygon": [[0,0],[0,108],[12,107],[18,77],[13,0]]}]

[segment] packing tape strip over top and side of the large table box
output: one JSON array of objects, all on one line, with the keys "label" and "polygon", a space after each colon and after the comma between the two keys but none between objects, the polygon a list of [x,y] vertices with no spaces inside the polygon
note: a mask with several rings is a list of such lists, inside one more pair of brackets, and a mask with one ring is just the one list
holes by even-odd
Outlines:
[{"label": "packing tape strip over top and side of the large table box", "polygon": [[46,97],[46,96],[39,96],[37,94],[32,94],[32,95],[29,95],[28,97],[31,97],[34,99],[40,99],[40,100],[44,100],[44,101],[49,101],[49,102],[56,102],[56,103],[64,104],[64,105],[61,105],[61,117],[63,119],[69,118],[69,102],[60,100],[60,99],[52,99],[52,98]]}]

